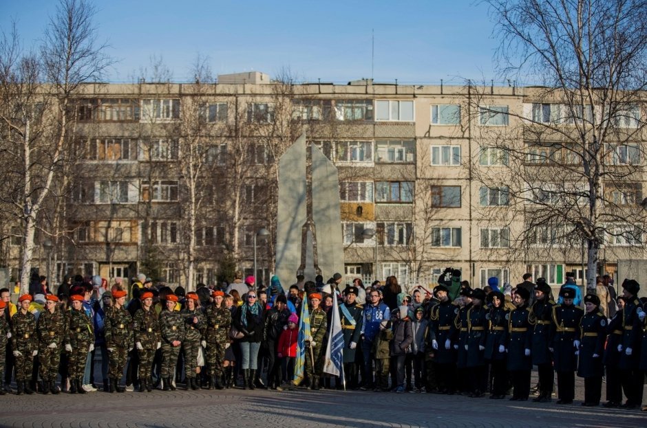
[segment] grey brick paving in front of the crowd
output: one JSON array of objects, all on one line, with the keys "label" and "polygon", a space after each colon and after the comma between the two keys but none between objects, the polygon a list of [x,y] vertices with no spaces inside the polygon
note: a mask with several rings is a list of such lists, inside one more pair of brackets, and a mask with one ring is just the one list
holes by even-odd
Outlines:
[{"label": "grey brick paving in front of the crowd", "polygon": [[[578,382],[577,396],[582,395]],[[604,387],[604,385],[603,385]],[[647,412],[376,392],[184,391],[0,397],[0,427],[646,427]],[[604,397],[604,392],[603,392]]]}]

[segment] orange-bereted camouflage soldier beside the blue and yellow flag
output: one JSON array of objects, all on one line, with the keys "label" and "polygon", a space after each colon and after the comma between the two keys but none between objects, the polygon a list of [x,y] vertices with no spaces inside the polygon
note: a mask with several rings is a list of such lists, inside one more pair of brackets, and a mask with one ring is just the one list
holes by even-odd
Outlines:
[{"label": "orange-bereted camouflage soldier beside the blue and yellow flag", "polygon": [[312,312],[310,312],[310,335],[306,335],[306,345],[308,346],[306,348],[306,374],[308,375],[308,379],[310,379],[308,388],[311,390],[319,390],[319,377],[324,370],[323,342],[324,335],[326,335],[326,328],[328,328],[328,315],[319,307],[319,304],[321,304],[321,294],[312,293],[308,297],[310,298]]}]

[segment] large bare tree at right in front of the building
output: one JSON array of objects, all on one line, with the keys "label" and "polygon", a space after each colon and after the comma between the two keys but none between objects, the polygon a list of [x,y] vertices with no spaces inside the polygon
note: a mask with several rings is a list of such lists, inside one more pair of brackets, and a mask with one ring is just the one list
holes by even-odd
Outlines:
[{"label": "large bare tree at right in front of the building", "polygon": [[[586,278],[595,287],[605,240],[642,247],[647,3],[641,0],[486,0],[496,23],[500,71],[526,74],[523,110],[502,111],[494,91],[469,85],[468,111],[481,151],[484,218],[505,199],[513,211],[511,248],[538,258],[538,245],[586,247]],[[509,126],[487,126],[509,120]],[[505,156],[508,172],[481,156]],[[502,214],[502,210],[498,213]],[[504,221],[498,218],[498,221]],[[568,252],[568,251],[567,251]],[[577,253],[576,253],[577,254]],[[517,254],[518,256],[518,254]]]}]

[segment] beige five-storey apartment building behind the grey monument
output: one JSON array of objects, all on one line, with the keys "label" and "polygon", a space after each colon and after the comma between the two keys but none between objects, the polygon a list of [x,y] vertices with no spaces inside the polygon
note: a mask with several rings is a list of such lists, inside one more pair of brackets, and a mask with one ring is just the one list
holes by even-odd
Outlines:
[{"label": "beige five-storey apartment building behind the grey monument", "polygon": [[[569,126],[563,106],[546,102],[543,93],[371,80],[288,85],[260,73],[219,76],[209,85],[87,85],[74,109],[76,167],[65,233],[53,249],[39,246],[34,264],[43,271],[50,260],[59,280],[83,273],[111,282],[154,264],[161,280],[193,288],[215,282],[226,260],[253,273],[256,245],[257,274],[268,282],[278,157],[305,132],[339,170],[348,278],[396,275],[403,284],[429,286],[453,267],[474,286],[492,276],[516,284],[527,271],[553,285],[564,282],[566,271],[580,280],[582,242],[562,239],[566,225],[532,226],[523,214],[558,206],[551,186],[581,187],[576,174],[565,185],[560,174],[533,181],[522,172],[550,170],[551,162],[564,171],[576,163],[562,168],[563,147],[545,144],[551,137],[524,124],[527,118],[552,120],[558,131]],[[645,114],[630,113],[637,120]],[[637,128],[631,120],[620,125]],[[517,146],[515,154],[505,150]],[[610,148],[609,164],[636,166],[644,161],[640,152],[639,145]],[[531,196],[520,201],[523,181]],[[617,182],[602,192],[639,205],[644,175],[626,181],[630,192],[619,192]],[[621,232],[602,247],[599,273],[613,275],[619,259],[645,258],[642,235],[625,234],[630,224],[617,227]],[[257,236],[261,228],[268,238]],[[5,251],[14,274],[15,244],[7,240]],[[324,280],[330,276],[324,273]]]}]

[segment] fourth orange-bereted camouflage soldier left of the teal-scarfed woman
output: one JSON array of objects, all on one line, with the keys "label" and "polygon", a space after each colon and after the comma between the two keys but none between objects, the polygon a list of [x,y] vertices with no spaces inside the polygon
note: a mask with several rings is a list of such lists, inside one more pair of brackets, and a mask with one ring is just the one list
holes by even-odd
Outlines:
[{"label": "fourth orange-bereted camouflage soldier left of the teal-scarfed woman", "polygon": [[140,392],[153,390],[151,370],[155,351],[161,346],[160,320],[153,309],[153,293],[146,291],[140,296],[142,307],[133,317],[135,346],[139,356]]}]

